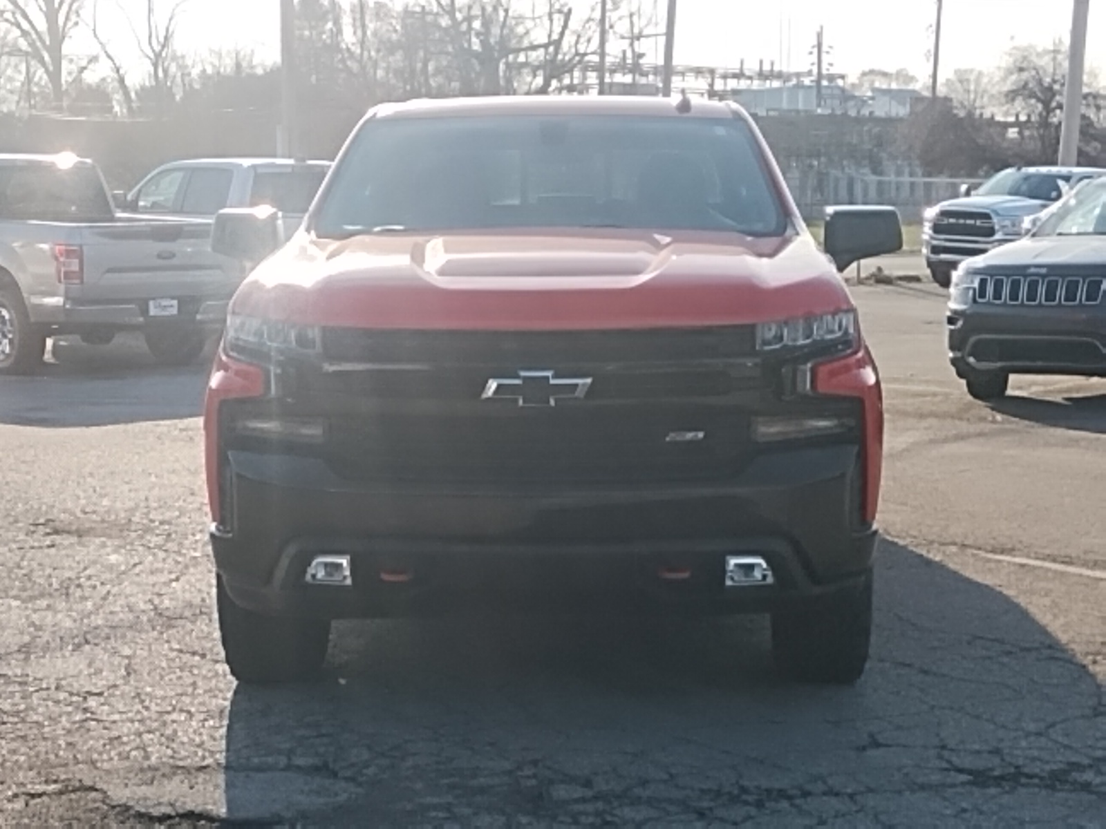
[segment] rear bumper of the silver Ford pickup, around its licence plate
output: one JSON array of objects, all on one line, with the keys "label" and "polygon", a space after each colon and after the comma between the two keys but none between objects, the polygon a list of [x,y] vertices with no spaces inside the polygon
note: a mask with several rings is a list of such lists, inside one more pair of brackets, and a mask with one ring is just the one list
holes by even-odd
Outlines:
[{"label": "rear bumper of the silver Ford pickup, around its licence plate", "polygon": [[137,329],[163,324],[191,324],[219,328],[227,319],[230,298],[184,300],[179,313],[167,317],[149,316],[146,313],[148,304],[149,300],[113,300],[100,303],[46,297],[32,298],[28,309],[34,323],[48,325],[60,334],[79,334],[91,328]]}]

